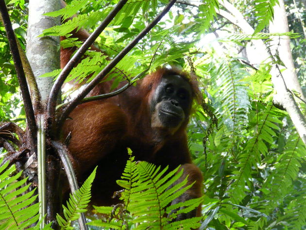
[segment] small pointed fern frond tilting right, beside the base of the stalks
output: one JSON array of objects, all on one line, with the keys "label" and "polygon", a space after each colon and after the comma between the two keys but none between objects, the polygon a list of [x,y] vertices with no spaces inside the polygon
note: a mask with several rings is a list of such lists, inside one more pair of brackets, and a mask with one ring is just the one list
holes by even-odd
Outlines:
[{"label": "small pointed fern frond tilting right, beside the base of the stalks", "polygon": [[78,189],[73,195],[70,194],[69,200],[67,201],[67,207],[63,205],[64,218],[59,214],[56,215],[56,220],[61,226],[62,230],[72,230],[71,222],[77,220],[80,217],[81,212],[86,212],[86,207],[90,201],[90,189],[92,182],[96,176],[96,170],[90,174],[90,176],[85,180],[84,184],[80,189]]}]

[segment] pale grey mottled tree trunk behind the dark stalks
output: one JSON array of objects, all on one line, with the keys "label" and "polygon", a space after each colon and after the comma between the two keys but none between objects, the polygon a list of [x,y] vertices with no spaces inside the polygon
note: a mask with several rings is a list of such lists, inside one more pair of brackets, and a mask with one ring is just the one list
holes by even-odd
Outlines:
[{"label": "pale grey mottled tree trunk behind the dark stalks", "polygon": [[38,37],[38,35],[41,35],[44,29],[60,24],[59,17],[51,18],[43,15],[59,9],[59,0],[30,0],[29,2],[27,57],[36,77],[42,105],[47,103],[53,79],[39,76],[60,68],[60,49],[59,37]]}]

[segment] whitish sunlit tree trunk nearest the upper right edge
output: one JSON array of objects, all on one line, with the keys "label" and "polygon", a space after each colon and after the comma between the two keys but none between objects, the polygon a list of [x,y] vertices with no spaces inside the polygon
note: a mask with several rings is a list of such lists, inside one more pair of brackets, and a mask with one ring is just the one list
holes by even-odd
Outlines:
[{"label": "whitish sunlit tree trunk nearest the upper right edge", "polygon": [[[270,33],[286,33],[289,32],[288,20],[286,15],[286,9],[284,0],[279,0],[279,5],[274,6],[274,19],[269,26]],[[301,85],[298,81],[298,77],[294,68],[292,59],[292,53],[290,49],[289,36],[282,36],[272,38],[272,47],[270,48],[272,53],[276,50],[279,52],[279,56],[285,66],[281,66],[282,75],[285,79],[286,85],[289,89],[293,89],[301,94],[301,97],[305,100]]]}]

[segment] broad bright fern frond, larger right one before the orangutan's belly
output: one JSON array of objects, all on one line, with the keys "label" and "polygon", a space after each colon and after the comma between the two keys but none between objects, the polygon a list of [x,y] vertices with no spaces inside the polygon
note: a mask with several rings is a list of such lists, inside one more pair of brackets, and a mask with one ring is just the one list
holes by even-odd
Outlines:
[{"label": "broad bright fern frond, larger right one before the orangutan's belly", "polygon": [[[133,223],[137,223],[136,229],[141,230],[145,229],[148,226],[151,226],[152,229],[170,229],[168,227],[171,226],[172,229],[182,228],[190,229],[190,225],[188,222],[173,222],[172,225],[169,224],[170,218],[164,217],[165,213],[174,213],[172,217],[177,216],[178,212],[187,213],[189,208],[190,210],[194,209],[201,203],[201,199],[192,199],[191,201],[181,202],[178,205],[173,205],[171,209],[170,207],[165,211],[164,208],[171,203],[172,200],[178,198],[187,189],[189,189],[191,185],[186,186],[187,177],[179,182],[175,182],[181,177],[183,173],[182,170],[178,172],[179,167],[174,169],[170,174],[174,175],[170,177],[166,182],[160,182],[155,179],[155,175],[160,178],[166,170],[160,171],[160,167],[156,167],[155,165],[141,161],[137,164],[138,172],[139,172],[139,180],[136,183],[136,186],[132,189],[131,201],[133,203],[130,205],[129,211],[134,216],[132,220]],[[168,188],[165,190],[165,188]],[[174,208],[182,208],[183,209],[176,211]],[[199,220],[199,219],[197,219]],[[184,225],[185,224],[185,225]],[[199,226],[199,223],[192,225]]]}]

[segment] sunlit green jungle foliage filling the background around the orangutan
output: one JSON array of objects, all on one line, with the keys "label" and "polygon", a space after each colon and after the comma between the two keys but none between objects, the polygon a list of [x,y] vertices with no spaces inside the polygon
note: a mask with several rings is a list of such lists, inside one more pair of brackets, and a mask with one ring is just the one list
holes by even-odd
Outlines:
[{"label": "sunlit green jungle foliage filling the background around the orangutan", "polygon": [[[67,35],[75,27],[92,31],[116,2],[72,0],[69,10],[49,16],[69,18],[76,13],[78,16],[46,30],[45,35]],[[97,45],[110,57],[116,56],[166,2],[128,1],[97,39]],[[305,31],[305,6],[299,5],[303,1],[296,1],[297,8],[293,2],[285,2],[293,12],[289,15],[289,27],[292,32],[301,33],[303,28]],[[7,3],[17,38],[25,44],[27,3],[24,0]],[[118,74],[114,71],[108,79],[117,77],[116,87],[122,73],[127,78],[164,64],[181,66],[198,75],[204,105],[196,107],[188,137],[194,162],[204,175],[201,229],[305,229],[305,144],[287,112],[273,104],[275,92],[270,71],[275,63],[250,65],[242,52],[252,39],[263,39],[269,47],[272,35],[240,33],[238,27],[217,15],[219,8],[224,9],[220,4],[216,0],[204,0],[199,5],[178,1],[153,31],[119,62]],[[239,0],[235,4],[255,32],[267,32],[265,27],[272,19],[275,0]],[[289,35],[298,77],[305,89],[305,34]],[[6,44],[4,28],[0,25],[0,120],[25,126],[15,70]],[[68,38],[62,45],[80,44]],[[255,51],[251,55],[260,53]],[[71,72],[69,80],[82,81],[90,73],[95,75],[107,64],[105,57],[88,51],[87,58]],[[279,60],[277,52],[275,59]],[[58,72],[49,75],[56,76]],[[296,102],[306,114],[305,103],[298,98]],[[212,132],[206,139],[207,130]]]}]

